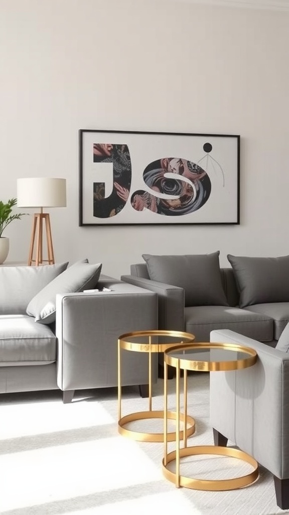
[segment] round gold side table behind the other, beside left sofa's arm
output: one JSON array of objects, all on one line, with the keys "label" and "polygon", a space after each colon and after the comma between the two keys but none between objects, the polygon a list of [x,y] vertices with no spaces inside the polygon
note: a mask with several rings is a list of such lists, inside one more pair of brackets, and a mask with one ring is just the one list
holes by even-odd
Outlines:
[{"label": "round gold side table behind the other, beside left sofa's arm", "polygon": [[[174,344],[186,347],[191,345],[195,337],[193,334],[184,333],[181,331],[135,331],[132,333],[122,334],[118,339],[118,431],[123,436],[128,436],[134,440],[146,442],[163,442],[164,433],[142,433],[139,431],[130,430],[125,427],[129,422],[134,422],[142,419],[161,418],[164,419],[164,410],[152,410],[152,353],[165,352]],[[134,352],[147,352],[149,356],[149,409],[148,411],[137,411],[122,417],[121,413],[121,350],[134,351]],[[165,370],[164,381],[167,383],[168,369]],[[185,388],[185,386],[184,386]],[[178,422],[178,437],[184,438],[192,435],[195,431],[195,421],[187,414],[187,404],[184,405],[184,413],[175,413],[166,409],[166,423],[165,430],[167,433],[167,440],[173,441],[176,438],[175,432],[168,433],[167,419],[183,421],[184,430],[179,430]]]}]

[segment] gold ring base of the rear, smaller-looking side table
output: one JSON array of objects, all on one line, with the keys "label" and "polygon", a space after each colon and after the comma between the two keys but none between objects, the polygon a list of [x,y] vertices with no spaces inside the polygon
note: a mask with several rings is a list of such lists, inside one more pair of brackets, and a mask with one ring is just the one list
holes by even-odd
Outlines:
[{"label": "gold ring base of the rear, smaller-looking side table", "polygon": [[[168,411],[168,419],[176,420],[176,413],[174,411]],[[133,440],[138,440],[142,442],[163,442],[164,441],[164,433],[141,433],[139,431],[129,430],[124,427],[129,422],[135,422],[137,420],[144,419],[152,419],[152,418],[164,418],[164,411],[137,411],[136,413],[130,413],[125,417],[122,417],[118,421],[118,432],[123,436],[128,436]],[[185,416],[183,413],[179,414],[179,420],[184,423]],[[186,425],[186,436],[191,436],[195,432],[195,421],[192,417],[187,415]],[[175,441],[176,433],[168,433],[167,440],[169,442]],[[179,432],[179,438],[181,440],[184,439],[184,431]]]}]

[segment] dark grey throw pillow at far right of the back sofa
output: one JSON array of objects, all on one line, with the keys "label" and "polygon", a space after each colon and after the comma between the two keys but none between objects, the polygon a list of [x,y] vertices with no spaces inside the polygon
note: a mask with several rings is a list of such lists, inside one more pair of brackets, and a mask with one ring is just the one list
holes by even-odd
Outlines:
[{"label": "dark grey throw pillow at far right of the back sofa", "polygon": [[228,254],[240,293],[240,307],[289,302],[289,256],[251,258]]}]

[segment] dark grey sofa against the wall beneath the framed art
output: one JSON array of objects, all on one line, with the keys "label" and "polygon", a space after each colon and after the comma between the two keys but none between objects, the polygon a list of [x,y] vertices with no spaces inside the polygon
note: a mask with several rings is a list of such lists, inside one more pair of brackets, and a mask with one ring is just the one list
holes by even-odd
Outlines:
[{"label": "dark grey sofa against the wall beneath the framed art", "polygon": [[143,254],[121,277],[158,294],[159,329],[187,331],[209,341],[214,329],[230,329],[275,346],[289,320],[289,256],[250,258]]}]

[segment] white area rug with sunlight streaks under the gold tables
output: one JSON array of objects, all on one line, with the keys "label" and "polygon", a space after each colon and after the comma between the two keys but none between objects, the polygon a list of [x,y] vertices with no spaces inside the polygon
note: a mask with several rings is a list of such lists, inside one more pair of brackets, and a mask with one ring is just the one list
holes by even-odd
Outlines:
[{"label": "white area rug with sunlight streaks under the gold tables", "polygon": [[[190,444],[213,443],[208,424],[209,374],[189,376],[188,413],[196,420]],[[169,381],[174,410],[175,383]],[[153,409],[162,409],[163,381]],[[123,388],[122,416],[148,409],[137,388]],[[277,515],[273,477],[263,468],[249,487],[228,492],[175,488],[163,475],[163,443],[118,434],[117,389],[77,392],[63,404],[60,392],[0,396],[0,512],[4,515]],[[151,424],[142,421],[141,431]],[[137,425],[138,423],[134,423]],[[145,425],[143,425],[145,424]],[[173,449],[173,443],[170,444]],[[237,463],[238,462],[238,463]],[[247,465],[231,458],[186,458],[184,475],[232,477]],[[249,470],[249,469],[248,469]]]}]

